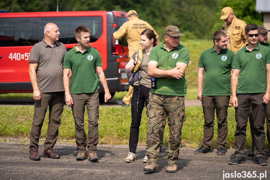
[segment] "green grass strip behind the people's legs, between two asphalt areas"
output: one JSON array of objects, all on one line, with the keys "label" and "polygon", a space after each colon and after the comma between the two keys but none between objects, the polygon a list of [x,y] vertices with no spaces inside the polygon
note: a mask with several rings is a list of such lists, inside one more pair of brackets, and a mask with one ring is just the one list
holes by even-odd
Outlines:
[{"label": "green grass strip behind the people's legs, between two asphalt areas", "polygon": [[[200,106],[186,107],[186,121],[182,128],[182,146],[184,147],[200,147],[203,139],[203,111]],[[30,129],[33,120],[34,106],[2,106],[0,108],[0,136],[6,138],[29,138]],[[84,115],[85,130],[87,126],[87,111]],[[235,148],[234,131],[236,122],[234,117],[234,108],[228,108],[228,136],[227,148]],[[142,114],[139,145],[145,145],[147,132],[147,116],[145,110]],[[99,107],[99,144],[124,144],[129,142],[131,123],[130,107]],[[266,125],[265,125],[266,127]],[[46,114],[41,130],[40,139],[46,138],[48,129],[48,113]],[[168,145],[169,130],[166,124],[164,132],[164,146]],[[59,140],[70,140],[75,142],[75,127],[71,110],[66,110],[61,118],[61,126],[59,127]],[[214,141],[212,147],[217,144],[217,120],[214,121]],[[251,148],[251,135],[249,123],[247,125],[246,148]],[[265,148],[268,147],[267,140]]]}]

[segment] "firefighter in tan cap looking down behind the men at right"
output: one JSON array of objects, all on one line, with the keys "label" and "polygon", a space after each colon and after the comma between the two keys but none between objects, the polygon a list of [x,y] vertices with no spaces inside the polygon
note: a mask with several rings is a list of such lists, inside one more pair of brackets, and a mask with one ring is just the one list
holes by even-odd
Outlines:
[{"label": "firefighter in tan cap looking down behind the men at right", "polygon": [[222,25],[222,30],[227,33],[228,37],[227,48],[236,53],[247,44],[247,39],[245,38],[245,27],[247,23],[237,19],[230,7],[223,8],[221,15],[220,19],[224,19],[225,21]]}]

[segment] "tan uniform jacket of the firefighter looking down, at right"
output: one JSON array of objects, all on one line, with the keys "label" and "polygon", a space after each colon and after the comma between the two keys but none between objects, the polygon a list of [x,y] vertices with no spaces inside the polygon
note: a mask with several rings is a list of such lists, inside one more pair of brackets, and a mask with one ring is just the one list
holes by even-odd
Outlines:
[{"label": "tan uniform jacket of the firefighter looking down, at right", "polygon": [[[245,27],[247,26],[247,23],[245,21],[242,21],[240,19],[237,19],[235,16],[232,19],[232,23],[230,26],[230,50],[232,50],[234,53],[236,53],[239,49],[244,47],[247,44],[247,39],[245,37]],[[228,31],[228,24],[225,22],[222,25],[222,30],[227,33]]]}]

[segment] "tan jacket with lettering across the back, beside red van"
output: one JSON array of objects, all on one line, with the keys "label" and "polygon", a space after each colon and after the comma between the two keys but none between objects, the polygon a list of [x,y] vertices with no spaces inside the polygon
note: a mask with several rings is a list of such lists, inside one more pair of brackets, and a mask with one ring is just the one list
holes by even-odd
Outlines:
[{"label": "tan jacket with lettering across the back, beside red van", "polygon": [[[140,34],[145,29],[152,29],[157,35],[150,24],[139,19],[138,17],[133,17],[129,21],[125,22],[117,31],[113,33],[115,39],[121,39],[125,36],[125,39],[128,42],[129,59],[131,59],[132,54],[134,54],[136,50],[142,49],[140,44]],[[158,35],[156,37],[159,38]]]}]

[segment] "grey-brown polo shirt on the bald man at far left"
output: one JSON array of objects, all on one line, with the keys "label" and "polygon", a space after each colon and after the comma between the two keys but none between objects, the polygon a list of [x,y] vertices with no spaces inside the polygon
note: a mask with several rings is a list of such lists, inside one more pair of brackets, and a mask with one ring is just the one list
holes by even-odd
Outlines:
[{"label": "grey-brown polo shirt on the bald man at far left", "polygon": [[63,60],[67,49],[63,43],[49,46],[44,38],[34,44],[29,63],[38,63],[36,70],[38,88],[41,93],[65,91],[63,83]]}]

